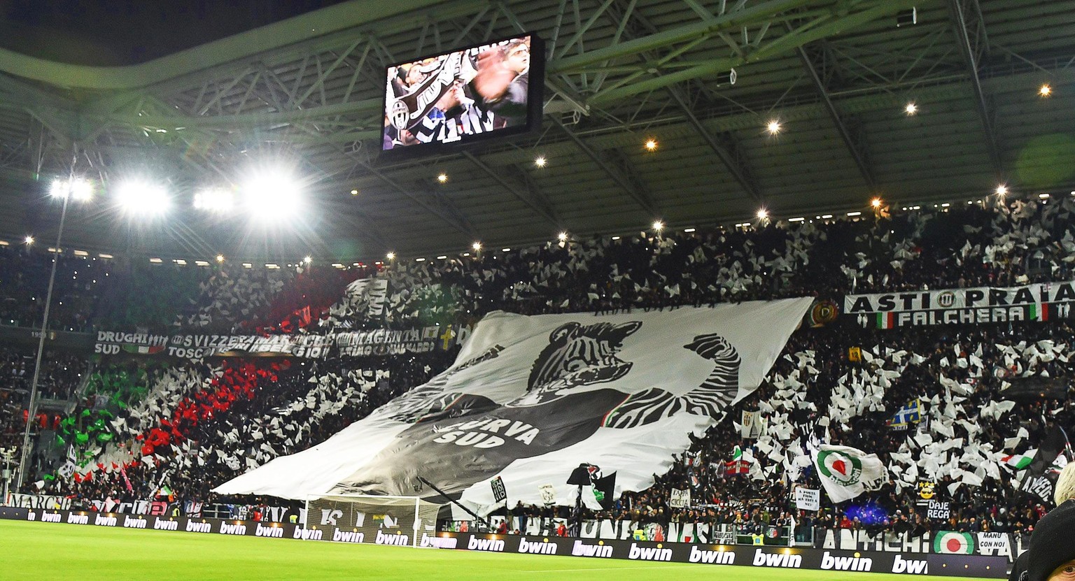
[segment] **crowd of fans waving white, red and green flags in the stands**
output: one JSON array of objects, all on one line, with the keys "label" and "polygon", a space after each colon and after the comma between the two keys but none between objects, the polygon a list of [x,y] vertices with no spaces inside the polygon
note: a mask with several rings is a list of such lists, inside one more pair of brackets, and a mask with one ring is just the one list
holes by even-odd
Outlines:
[{"label": "crowd of fans waving white, red and green flags in the stands", "polygon": [[[96,278],[57,289],[56,300],[72,307],[57,320],[68,329],[89,323],[248,333],[408,329],[470,323],[494,309],[606,313],[801,295],[838,302],[850,292],[1067,280],[1075,262],[1073,212],[1070,200],[971,204],[892,217],[878,213],[855,220],[569,239],[512,252],[397,261],[383,272],[196,268],[63,257],[57,280]],[[37,271],[44,257],[0,248],[0,289],[14,297],[5,303],[5,324],[33,321],[30,307],[42,301]],[[68,274],[75,268],[83,274]],[[372,286],[350,285],[373,274],[387,280],[376,308],[371,302],[381,300],[371,297]],[[115,284],[94,286],[104,277]],[[169,287],[164,280],[172,277],[177,282]],[[77,320],[87,313],[97,318]],[[755,394],[673,459],[651,489],[625,494],[617,508],[597,517],[663,524],[761,526],[794,520],[906,532],[1026,531],[1043,508],[1015,492],[1018,473],[1002,457],[1036,448],[1054,424],[1067,430],[1075,417],[1067,383],[1051,398],[1013,394],[1028,379],[1071,377],[1072,336],[1062,320],[873,331],[842,319],[797,332]],[[851,348],[861,350],[860,361],[849,359]],[[89,466],[89,480],[80,469],[76,479],[48,488],[83,497],[143,497],[167,475],[182,496],[206,499],[213,485],[324,440],[450,361],[452,352],[290,363],[171,361],[148,367],[114,361],[91,378],[80,407],[114,416],[87,416],[84,422],[108,420],[109,439],[82,445],[98,469]],[[63,367],[77,365],[53,364],[54,384],[76,383],[76,376],[57,371]],[[20,371],[25,374],[25,361],[16,358],[0,374],[15,381]],[[6,386],[0,390],[5,434],[20,423],[12,412],[18,407],[12,405],[15,393]],[[922,402],[921,422],[903,431],[887,425],[897,409],[916,398]],[[743,409],[766,418],[763,435],[740,434]],[[794,511],[793,486],[819,488],[803,457],[821,441],[877,453],[888,482],[837,510]],[[746,474],[728,474],[726,463],[736,453],[749,465]],[[39,464],[37,476],[55,468],[44,460]],[[919,480],[937,482],[952,503],[952,522],[923,517],[916,506]],[[690,490],[694,506],[671,508],[671,489]]]}]

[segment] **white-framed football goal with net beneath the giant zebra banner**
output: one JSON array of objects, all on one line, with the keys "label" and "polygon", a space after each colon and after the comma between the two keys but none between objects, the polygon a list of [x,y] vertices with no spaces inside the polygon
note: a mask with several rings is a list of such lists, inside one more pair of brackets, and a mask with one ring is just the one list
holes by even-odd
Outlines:
[{"label": "white-framed football goal with net beneath the giant zebra banner", "polygon": [[436,534],[441,505],[417,496],[318,496],[306,500],[306,527],[333,528],[332,540],[419,547]]}]

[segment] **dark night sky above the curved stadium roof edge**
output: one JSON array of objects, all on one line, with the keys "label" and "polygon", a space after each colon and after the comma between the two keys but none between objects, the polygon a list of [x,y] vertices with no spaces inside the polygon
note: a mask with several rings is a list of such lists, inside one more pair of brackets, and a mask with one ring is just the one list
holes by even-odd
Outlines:
[{"label": "dark night sky above the curved stadium roof edge", "polygon": [[343,0],[0,0],[0,46],[77,64],[153,60]]}]

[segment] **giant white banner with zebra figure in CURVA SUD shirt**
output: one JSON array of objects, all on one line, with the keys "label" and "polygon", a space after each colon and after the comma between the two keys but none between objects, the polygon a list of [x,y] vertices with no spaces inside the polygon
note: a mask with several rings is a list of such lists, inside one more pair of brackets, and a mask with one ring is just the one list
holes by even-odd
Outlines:
[{"label": "giant white banner with zebra figure in CURVA SUD shirt", "polygon": [[[645,490],[728,407],[757,389],[812,300],[662,313],[488,315],[456,362],[327,441],[216,489],[299,498],[317,494],[438,495],[493,508],[539,504],[582,463]],[[590,500],[592,495],[586,495]],[[596,503],[593,508],[597,508]]]}]

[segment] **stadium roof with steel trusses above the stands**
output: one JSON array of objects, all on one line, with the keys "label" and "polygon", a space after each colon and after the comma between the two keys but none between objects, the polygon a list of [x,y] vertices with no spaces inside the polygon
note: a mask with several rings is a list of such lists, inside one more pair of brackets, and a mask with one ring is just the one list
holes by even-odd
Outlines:
[{"label": "stadium roof with steel trusses above the stands", "polygon": [[[331,5],[142,62],[75,64],[49,59],[95,59],[8,42],[0,236],[55,230],[44,183],[72,160],[104,181],[152,169],[184,205],[258,157],[301,160],[314,203],[293,234],[189,209],[138,227],[103,203],[68,217],[71,245],[187,257],[376,260],[637,232],[656,219],[731,224],[762,206],[811,218],[875,195],[901,206],[979,200],[999,184],[1075,189],[1075,1],[320,4]],[[228,23],[214,30],[242,30]],[[550,55],[539,133],[378,159],[387,64],[521,31]]]}]

